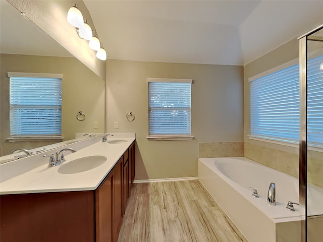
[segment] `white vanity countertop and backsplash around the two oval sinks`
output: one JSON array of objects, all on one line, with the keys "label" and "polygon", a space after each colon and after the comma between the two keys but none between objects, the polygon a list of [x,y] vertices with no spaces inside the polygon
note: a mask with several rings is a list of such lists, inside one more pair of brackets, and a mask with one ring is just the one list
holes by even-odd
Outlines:
[{"label": "white vanity countertop and backsplash around the two oval sinks", "polygon": [[[0,194],[95,190],[135,140],[134,133],[114,134],[114,137],[108,136],[107,140],[122,139],[126,142],[102,143],[100,136],[58,148],[58,151],[63,148],[73,148],[77,152],[64,152],[66,161],[55,167],[47,167],[49,158],[42,156],[54,153],[56,150],[1,164]],[[92,144],[78,149],[84,146],[84,142]],[[95,168],[79,173],[62,174],[58,171],[62,165],[72,160],[92,155],[105,156],[106,161]]]}]

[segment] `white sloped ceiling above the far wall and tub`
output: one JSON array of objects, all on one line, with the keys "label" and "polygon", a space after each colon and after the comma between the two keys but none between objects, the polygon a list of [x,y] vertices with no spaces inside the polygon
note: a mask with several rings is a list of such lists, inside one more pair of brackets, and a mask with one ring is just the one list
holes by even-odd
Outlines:
[{"label": "white sloped ceiling above the far wall and tub", "polygon": [[108,59],[246,65],[323,23],[323,0],[83,2]]}]

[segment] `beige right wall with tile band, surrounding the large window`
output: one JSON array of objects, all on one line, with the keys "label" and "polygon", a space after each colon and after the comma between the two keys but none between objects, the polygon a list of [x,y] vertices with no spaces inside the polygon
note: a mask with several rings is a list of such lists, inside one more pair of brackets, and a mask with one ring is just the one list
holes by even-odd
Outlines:
[{"label": "beige right wall with tile band, surrounding the large window", "polygon": [[[256,59],[244,68],[244,141],[245,157],[298,177],[299,148],[250,140],[250,84],[252,76],[297,59],[299,42],[293,39]],[[323,155],[308,151],[308,181],[323,187]]]}]

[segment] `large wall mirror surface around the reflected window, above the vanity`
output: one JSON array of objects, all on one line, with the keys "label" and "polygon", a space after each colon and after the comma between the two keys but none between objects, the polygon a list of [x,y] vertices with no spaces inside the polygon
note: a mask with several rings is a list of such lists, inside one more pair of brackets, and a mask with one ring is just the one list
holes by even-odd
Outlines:
[{"label": "large wall mirror surface around the reflected window, above the vanity", "polygon": [[[73,57],[66,49],[23,16],[7,1],[0,1],[0,156],[18,148],[34,149],[53,142],[9,142],[8,72],[62,74],[62,136],[104,132],[105,81]],[[79,111],[85,120],[77,120]],[[95,125],[94,125],[95,124]]]}]

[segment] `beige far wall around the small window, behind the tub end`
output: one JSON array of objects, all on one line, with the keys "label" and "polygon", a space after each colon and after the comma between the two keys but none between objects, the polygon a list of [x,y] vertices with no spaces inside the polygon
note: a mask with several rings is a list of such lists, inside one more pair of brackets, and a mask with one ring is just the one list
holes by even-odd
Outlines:
[{"label": "beige far wall around the small window, behind the tub end", "polygon": [[[193,79],[193,140],[147,141],[148,77]],[[109,60],[106,80],[106,130],[136,133],[136,179],[197,176],[199,142],[243,141],[241,66]]]}]

